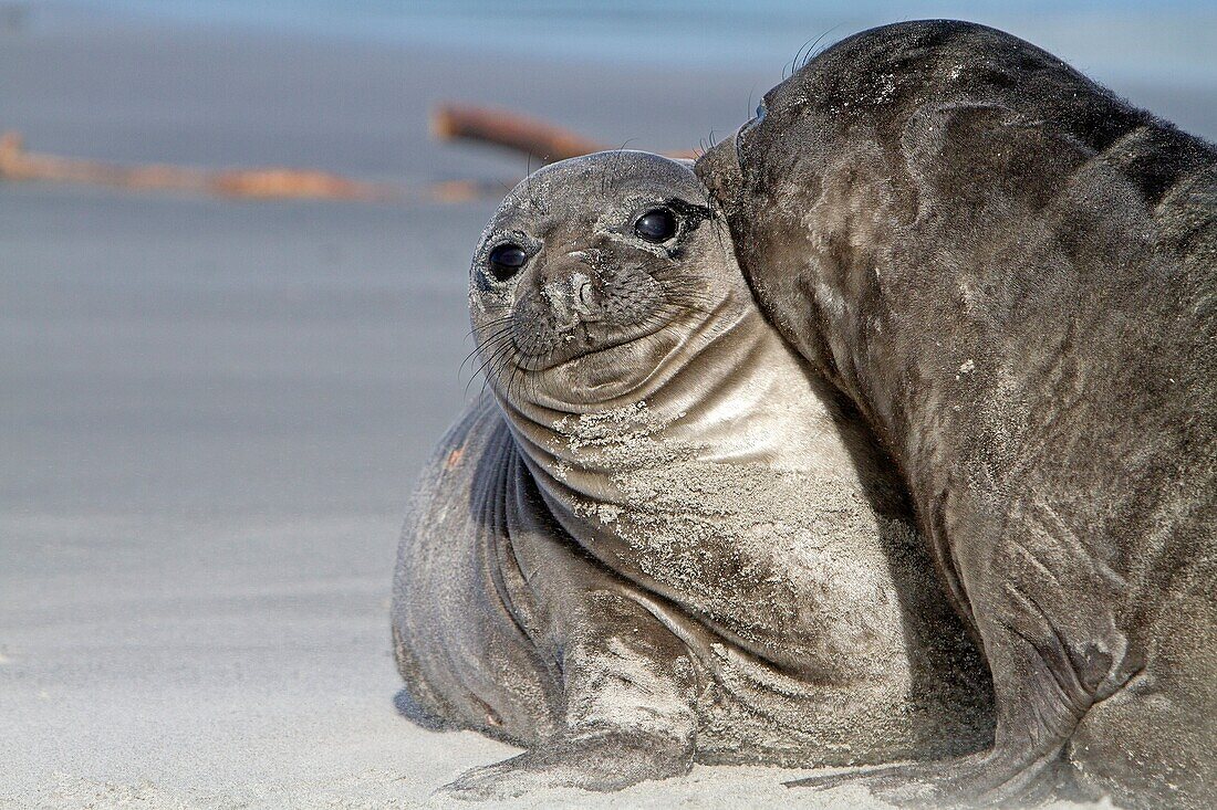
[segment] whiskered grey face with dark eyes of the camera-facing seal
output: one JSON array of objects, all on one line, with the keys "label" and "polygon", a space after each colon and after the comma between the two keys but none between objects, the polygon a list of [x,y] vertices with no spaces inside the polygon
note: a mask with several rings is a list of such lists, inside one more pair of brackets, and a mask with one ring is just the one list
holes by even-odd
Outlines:
[{"label": "whiskered grey face with dark eyes of the camera-facing seal", "polygon": [[601,152],[507,195],[473,253],[470,315],[500,396],[602,403],[654,373],[733,289],[746,292],[692,170]]}]

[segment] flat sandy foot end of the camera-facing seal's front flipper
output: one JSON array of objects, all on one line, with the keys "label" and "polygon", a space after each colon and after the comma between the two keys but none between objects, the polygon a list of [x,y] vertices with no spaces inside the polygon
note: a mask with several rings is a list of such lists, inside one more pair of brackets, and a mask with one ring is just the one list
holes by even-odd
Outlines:
[{"label": "flat sandy foot end of the camera-facing seal's front flipper", "polygon": [[466,771],[441,795],[454,799],[505,799],[545,788],[619,791],[669,776],[683,776],[692,747],[677,739],[632,730],[607,730],[565,737],[484,767]]}]

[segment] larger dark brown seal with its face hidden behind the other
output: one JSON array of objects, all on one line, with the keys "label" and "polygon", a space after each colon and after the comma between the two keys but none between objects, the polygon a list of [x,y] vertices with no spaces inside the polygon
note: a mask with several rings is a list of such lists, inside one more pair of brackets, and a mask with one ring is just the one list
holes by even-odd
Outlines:
[{"label": "larger dark brown seal with its face hidden behind the other", "polygon": [[903,472],[996,747],[888,799],[1217,806],[1217,151],[1027,43],[913,22],[696,170],[781,333]]}]

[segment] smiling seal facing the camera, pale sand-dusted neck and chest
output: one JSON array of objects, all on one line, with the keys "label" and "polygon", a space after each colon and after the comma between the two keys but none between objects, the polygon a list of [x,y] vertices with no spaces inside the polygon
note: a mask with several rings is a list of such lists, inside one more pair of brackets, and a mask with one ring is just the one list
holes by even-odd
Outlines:
[{"label": "smiling seal facing the camera, pale sand-dusted neck and chest", "polygon": [[689,165],[532,175],[470,311],[494,396],[422,476],[397,660],[410,711],[529,750],[450,793],[989,744],[902,490],[761,316]]}]

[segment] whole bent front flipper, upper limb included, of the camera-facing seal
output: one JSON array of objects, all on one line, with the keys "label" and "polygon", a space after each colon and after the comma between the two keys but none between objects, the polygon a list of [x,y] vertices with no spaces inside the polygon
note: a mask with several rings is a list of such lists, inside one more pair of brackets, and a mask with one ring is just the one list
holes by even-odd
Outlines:
[{"label": "whole bent front flipper, upper limb included, of the camera-facing seal", "polygon": [[624,590],[583,591],[555,620],[565,642],[565,730],[527,753],[469,771],[443,794],[607,792],[689,772],[697,669],[685,646]]}]

